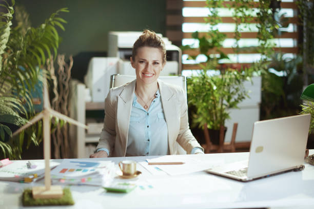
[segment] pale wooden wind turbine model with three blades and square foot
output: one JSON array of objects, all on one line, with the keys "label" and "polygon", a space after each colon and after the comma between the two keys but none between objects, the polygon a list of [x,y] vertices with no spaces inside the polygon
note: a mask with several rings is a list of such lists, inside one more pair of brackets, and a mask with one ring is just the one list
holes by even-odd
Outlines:
[{"label": "pale wooden wind turbine model with three blades and square foot", "polygon": [[60,185],[51,185],[50,177],[50,115],[63,119],[69,123],[73,123],[76,126],[88,129],[85,124],[80,123],[66,115],[58,113],[51,109],[49,95],[47,90],[47,80],[45,78],[43,88],[43,111],[38,113],[33,119],[31,119],[27,124],[19,128],[13,133],[13,136],[19,132],[25,130],[26,128],[32,126],[33,123],[40,119],[43,119],[43,133],[44,133],[44,159],[45,159],[45,186],[33,186],[32,195],[34,199],[47,199],[47,198],[61,198],[63,196],[63,190]]}]

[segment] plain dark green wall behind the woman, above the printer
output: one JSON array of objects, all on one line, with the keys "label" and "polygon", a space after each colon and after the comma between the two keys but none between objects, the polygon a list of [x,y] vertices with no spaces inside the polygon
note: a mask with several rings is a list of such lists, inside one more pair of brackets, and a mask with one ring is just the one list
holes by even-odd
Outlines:
[{"label": "plain dark green wall behind the woman, above the printer", "polygon": [[151,29],[165,34],[166,0],[16,0],[30,15],[32,26],[43,23],[57,9],[67,20],[58,53],[107,52],[109,31]]}]

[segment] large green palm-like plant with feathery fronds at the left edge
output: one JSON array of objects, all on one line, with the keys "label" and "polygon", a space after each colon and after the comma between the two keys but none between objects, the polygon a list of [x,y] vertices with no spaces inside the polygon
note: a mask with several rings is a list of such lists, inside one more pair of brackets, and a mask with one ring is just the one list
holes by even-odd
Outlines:
[{"label": "large green palm-like plant with feathery fronds at the left edge", "polygon": [[21,158],[24,139],[27,146],[41,141],[41,123],[36,123],[17,137],[12,131],[35,115],[31,91],[36,83],[47,77],[46,59],[56,56],[60,37],[57,27],[64,30],[64,19],[58,17],[66,8],[53,13],[37,28],[30,27],[28,16],[22,10],[16,17],[17,26],[12,27],[14,0],[9,5],[2,1],[0,7],[0,154]]}]

